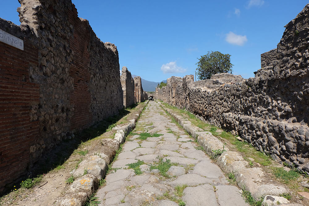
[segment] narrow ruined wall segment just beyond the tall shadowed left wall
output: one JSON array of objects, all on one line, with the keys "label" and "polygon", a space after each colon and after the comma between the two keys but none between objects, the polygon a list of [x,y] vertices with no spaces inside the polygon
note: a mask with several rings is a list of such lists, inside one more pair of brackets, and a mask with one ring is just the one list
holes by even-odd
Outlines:
[{"label": "narrow ruined wall segment just beyond the tall shadowed left wall", "polygon": [[120,82],[123,90],[123,106],[129,107],[136,103],[134,97],[135,83],[127,67],[122,67]]}]

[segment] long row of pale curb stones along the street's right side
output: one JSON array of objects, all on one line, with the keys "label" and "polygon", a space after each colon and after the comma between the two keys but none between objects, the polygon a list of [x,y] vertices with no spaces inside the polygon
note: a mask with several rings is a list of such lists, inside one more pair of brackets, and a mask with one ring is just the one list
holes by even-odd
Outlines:
[{"label": "long row of pale curb stones along the street's right side", "polygon": [[[226,173],[233,173],[240,188],[249,191],[255,200],[266,195],[277,195],[288,193],[289,191],[282,185],[267,179],[267,175],[259,167],[250,168],[249,163],[243,157],[224,146],[224,144],[214,137],[210,132],[201,132],[188,119],[183,119],[160,103],[167,111],[198,143],[204,148],[205,152],[211,157],[215,150],[226,150],[217,159],[218,166]],[[197,129],[198,128],[198,129]],[[283,202],[282,202],[283,203]]]}]

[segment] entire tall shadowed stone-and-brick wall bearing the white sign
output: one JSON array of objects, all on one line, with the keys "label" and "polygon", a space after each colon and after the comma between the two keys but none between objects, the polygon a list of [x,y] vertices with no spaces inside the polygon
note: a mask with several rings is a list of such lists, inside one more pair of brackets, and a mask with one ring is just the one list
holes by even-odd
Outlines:
[{"label": "entire tall shadowed stone-and-brick wall bearing the white sign", "polygon": [[0,28],[0,191],[41,154],[123,107],[116,46],[101,42],[70,0],[19,0],[21,26]]}]

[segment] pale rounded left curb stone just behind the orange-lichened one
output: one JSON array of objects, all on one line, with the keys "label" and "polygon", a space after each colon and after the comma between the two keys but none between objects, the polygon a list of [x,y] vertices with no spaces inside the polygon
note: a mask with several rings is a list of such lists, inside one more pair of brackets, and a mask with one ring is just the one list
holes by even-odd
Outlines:
[{"label": "pale rounded left curb stone just behind the orange-lichened one", "polygon": [[100,158],[98,155],[90,156],[87,159],[79,163],[77,170],[74,171],[74,178],[80,177],[87,170],[87,174],[93,174],[97,179],[105,177],[106,169],[108,165],[105,160]]}]

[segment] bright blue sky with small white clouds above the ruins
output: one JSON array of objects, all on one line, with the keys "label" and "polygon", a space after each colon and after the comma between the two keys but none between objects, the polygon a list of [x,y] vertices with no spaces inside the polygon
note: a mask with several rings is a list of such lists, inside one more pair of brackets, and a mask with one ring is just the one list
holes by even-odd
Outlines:
[{"label": "bright blue sky with small white clouds above the ruins", "polygon": [[[233,74],[254,77],[260,54],[277,47],[284,25],[304,0],[84,1],[72,0],[78,16],[119,52],[120,69],[159,82],[194,74],[208,51],[231,54]],[[3,1],[0,17],[19,23],[17,0]]]}]

